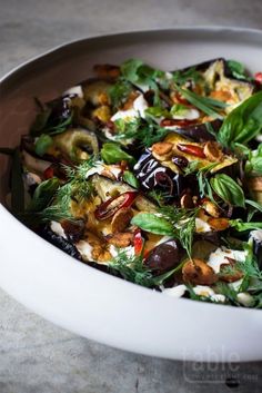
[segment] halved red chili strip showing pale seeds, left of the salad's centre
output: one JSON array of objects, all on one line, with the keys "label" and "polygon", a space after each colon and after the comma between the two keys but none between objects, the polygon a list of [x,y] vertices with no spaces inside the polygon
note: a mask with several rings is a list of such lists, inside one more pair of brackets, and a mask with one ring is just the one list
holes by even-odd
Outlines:
[{"label": "halved red chili strip showing pale seeds, left of the salad's centre", "polygon": [[101,204],[94,212],[97,219],[107,219],[112,217],[122,207],[130,207],[138,196],[137,191],[123,193],[115,198],[110,198]]}]

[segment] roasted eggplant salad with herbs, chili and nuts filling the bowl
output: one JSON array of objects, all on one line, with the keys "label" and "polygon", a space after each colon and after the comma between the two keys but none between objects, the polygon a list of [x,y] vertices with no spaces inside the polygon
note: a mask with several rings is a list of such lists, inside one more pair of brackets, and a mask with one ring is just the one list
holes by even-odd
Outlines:
[{"label": "roasted eggplant salad with herbs, chili and nuts filling the bowl", "polygon": [[39,112],[10,210],[79,262],[163,295],[262,307],[262,73],[130,59]]}]

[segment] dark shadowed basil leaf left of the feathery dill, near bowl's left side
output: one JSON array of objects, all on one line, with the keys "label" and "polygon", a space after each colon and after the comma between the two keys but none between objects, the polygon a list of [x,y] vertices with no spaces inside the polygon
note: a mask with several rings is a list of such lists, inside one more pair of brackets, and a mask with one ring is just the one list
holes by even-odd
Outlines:
[{"label": "dark shadowed basil leaf left of the feathery dill, near bowl's left side", "polygon": [[40,183],[33,193],[28,210],[41,212],[50,204],[58,188],[59,179],[57,177]]}]

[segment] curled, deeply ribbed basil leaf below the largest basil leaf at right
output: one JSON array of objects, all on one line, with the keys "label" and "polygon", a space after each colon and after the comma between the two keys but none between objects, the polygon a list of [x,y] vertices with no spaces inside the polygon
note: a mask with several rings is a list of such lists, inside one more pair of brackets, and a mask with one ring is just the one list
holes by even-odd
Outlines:
[{"label": "curled, deeply ribbed basil leaf below the largest basil leaf at right", "polygon": [[210,180],[214,193],[226,204],[244,207],[244,193],[242,188],[230,176],[224,174],[215,175]]}]

